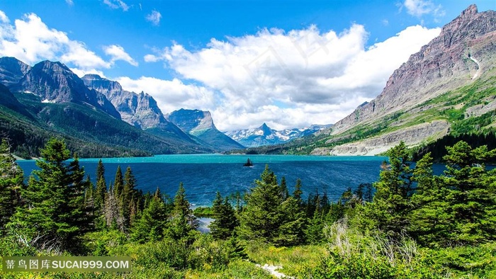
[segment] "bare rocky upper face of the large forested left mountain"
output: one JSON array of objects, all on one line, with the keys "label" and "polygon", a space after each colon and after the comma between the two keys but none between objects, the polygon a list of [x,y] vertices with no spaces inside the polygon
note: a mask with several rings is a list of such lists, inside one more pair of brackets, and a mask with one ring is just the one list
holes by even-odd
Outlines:
[{"label": "bare rocky upper face of the large forested left mountain", "polygon": [[103,94],[88,89],[76,74],[60,62],[43,61],[35,64],[9,89],[13,92],[33,93],[45,103],[71,102],[91,106],[120,119],[120,114]]}]

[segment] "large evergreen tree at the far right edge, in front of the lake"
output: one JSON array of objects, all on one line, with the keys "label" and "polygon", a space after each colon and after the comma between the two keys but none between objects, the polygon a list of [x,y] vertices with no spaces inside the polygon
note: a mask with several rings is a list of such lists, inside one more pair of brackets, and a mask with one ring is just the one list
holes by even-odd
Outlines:
[{"label": "large evergreen tree at the far right edge, in front of the lake", "polygon": [[487,171],[485,162],[494,156],[486,146],[472,149],[466,142],[446,147],[446,171],[441,178],[449,188],[446,197],[454,214],[455,227],[449,238],[458,243],[480,243],[495,239],[495,171]]}]

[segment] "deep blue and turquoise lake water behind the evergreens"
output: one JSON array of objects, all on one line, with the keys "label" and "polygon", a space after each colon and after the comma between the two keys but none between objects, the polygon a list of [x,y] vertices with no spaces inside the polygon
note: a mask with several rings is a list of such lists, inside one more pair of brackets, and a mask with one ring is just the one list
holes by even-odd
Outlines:
[{"label": "deep blue and turquoise lake water behind the evergreens", "polygon": [[[254,166],[243,166],[248,158]],[[162,193],[174,198],[182,182],[189,202],[193,206],[205,206],[211,205],[217,191],[225,196],[252,188],[266,164],[274,171],[278,181],[286,177],[290,193],[297,178],[300,178],[305,196],[318,190],[321,194],[326,192],[329,200],[338,200],[349,187],[356,188],[360,183],[377,181],[385,159],[381,156],[188,154],[108,158],[102,161],[107,186],[113,183],[118,166],[123,173],[130,166],[137,179],[137,188],[144,192],[153,192],[159,187]],[[98,159],[79,161],[94,181]],[[37,168],[33,160],[17,162],[26,176]]]}]

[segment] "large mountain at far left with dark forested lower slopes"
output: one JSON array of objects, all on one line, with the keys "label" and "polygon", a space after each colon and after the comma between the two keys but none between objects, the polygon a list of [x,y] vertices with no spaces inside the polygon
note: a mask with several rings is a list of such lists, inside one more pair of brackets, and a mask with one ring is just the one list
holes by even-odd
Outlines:
[{"label": "large mountain at far left with dark forested lower slopes", "polygon": [[[15,154],[39,156],[50,137],[63,137],[83,157],[210,152],[189,137],[161,137],[125,123],[103,93],[60,62],[22,66],[0,59],[0,83],[9,85],[0,86],[0,134],[11,139]],[[20,77],[19,69],[26,74]]]}]

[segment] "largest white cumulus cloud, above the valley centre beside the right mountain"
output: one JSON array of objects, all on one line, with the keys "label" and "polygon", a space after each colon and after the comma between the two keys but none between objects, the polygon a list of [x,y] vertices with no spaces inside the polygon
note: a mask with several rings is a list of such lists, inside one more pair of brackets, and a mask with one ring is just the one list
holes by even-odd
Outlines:
[{"label": "largest white cumulus cloud, above the valley centre beside the right mountain", "polygon": [[174,44],[145,61],[163,61],[185,79],[216,91],[212,113],[222,130],[263,122],[302,127],[335,123],[370,101],[390,74],[439,32],[412,26],[366,47],[368,33],[358,24],[341,33],[321,32],[315,25],[289,32],[262,29],[212,39],[201,50]]}]

